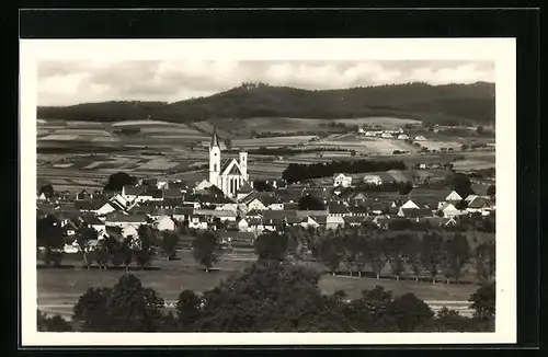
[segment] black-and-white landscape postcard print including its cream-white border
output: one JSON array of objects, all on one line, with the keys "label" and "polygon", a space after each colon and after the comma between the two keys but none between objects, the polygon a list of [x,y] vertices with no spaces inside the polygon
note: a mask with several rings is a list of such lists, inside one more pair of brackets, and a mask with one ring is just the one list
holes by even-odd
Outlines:
[{"label": "black-and-white landscape postcard print including its cream-white border", "polygon": [[22,41],[21,88],[23,342],[515,341],[514,41]]}]

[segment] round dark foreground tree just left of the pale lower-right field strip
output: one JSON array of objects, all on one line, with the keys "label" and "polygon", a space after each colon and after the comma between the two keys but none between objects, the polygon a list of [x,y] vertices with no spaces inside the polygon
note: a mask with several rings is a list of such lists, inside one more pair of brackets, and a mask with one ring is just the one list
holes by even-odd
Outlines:
[{"label": "round dark foreground tree just left of the pale lower-right field strip", "polygon": [[414,331],[418,326],[429,323],[434,316],[432,309],[411,292],[395,298],[390,303],[390,313],[402,332]]}]

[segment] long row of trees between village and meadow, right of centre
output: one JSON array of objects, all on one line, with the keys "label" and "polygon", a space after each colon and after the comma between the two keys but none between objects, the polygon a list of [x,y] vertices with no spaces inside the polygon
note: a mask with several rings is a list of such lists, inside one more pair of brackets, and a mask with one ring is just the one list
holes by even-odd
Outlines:
[{"label": "long row of trees between village and meadow, right of centre", "polygon": [[[473,244],[473,245],[472,245]],[[351,276],[373,272],[380,279],[387,268],[397,280],[411,275],[419,280],[426,273],[432,283],[443,274],[447,284],[458,283],[465,267],[472,265],[477,278],[494,279],[495,247],[490,240],[469,243],[460,232],[431,231],[386,233],[366,227],[336,231],[294,229],[285,233],[264,233],[255,241],[259,260],[283,261],[287,255],[301,261],[307,254],[323,263],[335,275],[341,266]]]}]

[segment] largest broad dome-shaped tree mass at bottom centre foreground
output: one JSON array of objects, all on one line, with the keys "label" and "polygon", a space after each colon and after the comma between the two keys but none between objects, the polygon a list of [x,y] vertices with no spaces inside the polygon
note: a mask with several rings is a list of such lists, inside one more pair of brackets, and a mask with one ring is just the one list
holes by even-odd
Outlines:
[{"label": "largest broad dome-shaped tree mass at bottom centre foreground", "polygon": [[[253,264],[204,292],[204,332],[351,332],[318,288],[319,274],[290,263]],[[333,299],[334,300],[334,299]]]}]

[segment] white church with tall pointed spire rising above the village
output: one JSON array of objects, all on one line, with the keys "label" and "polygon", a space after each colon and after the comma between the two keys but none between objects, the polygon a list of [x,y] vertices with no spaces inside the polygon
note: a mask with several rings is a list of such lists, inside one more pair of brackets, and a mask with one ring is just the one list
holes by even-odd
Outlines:
[{"label": "white church with tall pointed spire rising above the village", "polygon": [[249,181],[248,153],[241,151],[239,159],[226,159],[221,162],[219,138],[214,128],[209,142],[209,183],[228,197],[236,197],[238,189]]}]

